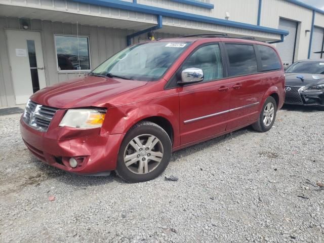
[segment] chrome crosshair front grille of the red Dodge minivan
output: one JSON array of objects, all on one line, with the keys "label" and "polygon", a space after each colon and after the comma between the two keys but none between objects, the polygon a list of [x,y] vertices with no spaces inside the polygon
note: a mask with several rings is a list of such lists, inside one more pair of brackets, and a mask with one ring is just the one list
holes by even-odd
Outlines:
[{"label": "chrome crosshair front grille of the red Dodge minivan", "polygon": [[33,129],[40,132],[46,132],[57,110],[58,109],[56,108],[38,105],[35,102],[28,100],[23,120]]}]

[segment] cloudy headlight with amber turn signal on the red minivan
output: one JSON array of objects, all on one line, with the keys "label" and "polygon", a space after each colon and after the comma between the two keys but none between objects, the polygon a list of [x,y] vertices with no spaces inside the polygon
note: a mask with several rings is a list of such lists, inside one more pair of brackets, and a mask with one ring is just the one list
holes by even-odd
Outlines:
[{"label": "cloudy headlight with amber turn signal on the red minivan", "polygon": [[105,119],[106,110],[71,109],[67,110],[60,127],[71,128],[100,128]]}]

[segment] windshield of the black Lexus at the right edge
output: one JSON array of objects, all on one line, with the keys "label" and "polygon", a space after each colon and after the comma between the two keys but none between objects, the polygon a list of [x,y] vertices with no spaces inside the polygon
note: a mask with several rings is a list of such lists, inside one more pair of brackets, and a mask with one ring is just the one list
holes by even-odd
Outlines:
[{"label": "windshield of the black Lexus at the right edge", "polygon": [[324,60],[322,62],[295,62],[286,72],[324,74]]}]

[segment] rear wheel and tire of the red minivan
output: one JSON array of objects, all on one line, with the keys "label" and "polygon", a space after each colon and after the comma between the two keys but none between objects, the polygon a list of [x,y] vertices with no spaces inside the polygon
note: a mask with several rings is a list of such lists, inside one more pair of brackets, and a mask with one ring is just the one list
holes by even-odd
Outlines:
[{"label": "rear wheel and tire of the red minivan", "polygon": [[[265,122],[264,121],[264,119],[266,117],[265,112],[267,112],[267,110],[270,107],[273,108],[273,113],[271,112],[272,116],[269,115],[268,116],[269,120],[266,120],[266,122]],[[276,113],[277,113],[277,104],[276,104],[275,100],[273,99],[273,97],[269,96],[263,104],[263,107],[260,112],[258,120],[256,121],[256,123],[252,124],[252,128],[255,131],[262,132],[262,133],[269,131],[274,124]],[[271,117],[272,117],[272,119],[271,119]],[[270,122],[270,120],[271,120],[271,122]]]}]

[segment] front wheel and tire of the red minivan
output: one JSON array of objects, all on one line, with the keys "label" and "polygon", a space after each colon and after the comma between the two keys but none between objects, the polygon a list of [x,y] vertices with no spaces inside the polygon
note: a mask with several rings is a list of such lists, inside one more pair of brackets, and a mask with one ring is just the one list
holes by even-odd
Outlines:
[{"label": "front wheel and tire of the red minivan", "polygon": [[167,168],[172,143],[167,132],[150,121],[134,125],[121,143],[116,174],[136,183],[155,179]]}]

